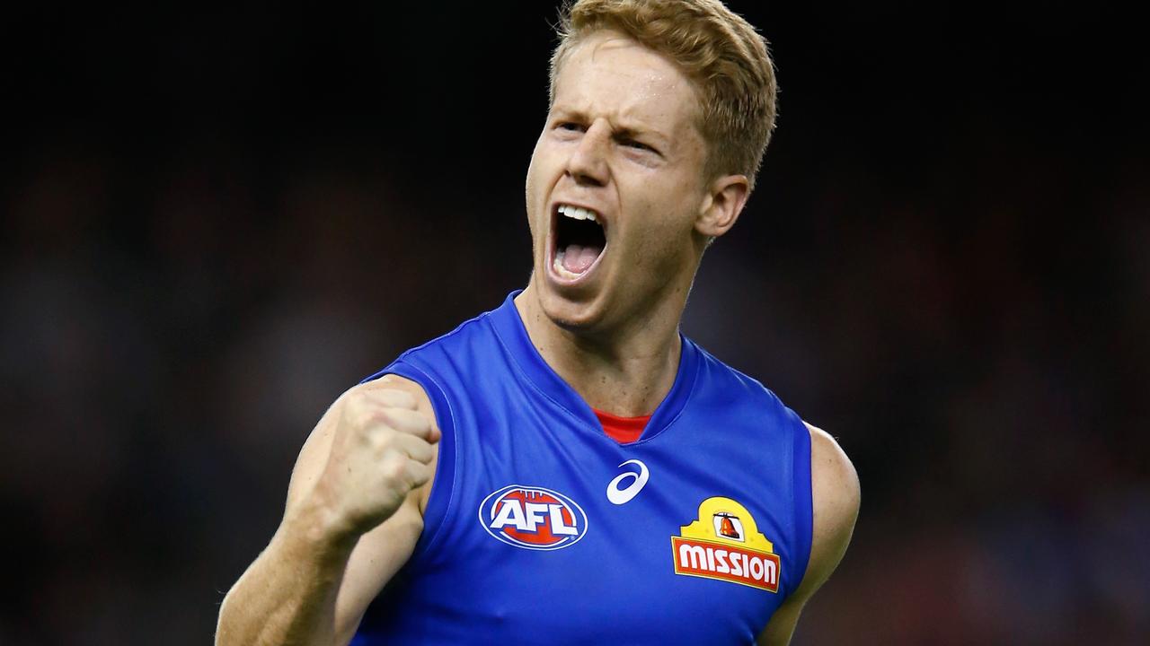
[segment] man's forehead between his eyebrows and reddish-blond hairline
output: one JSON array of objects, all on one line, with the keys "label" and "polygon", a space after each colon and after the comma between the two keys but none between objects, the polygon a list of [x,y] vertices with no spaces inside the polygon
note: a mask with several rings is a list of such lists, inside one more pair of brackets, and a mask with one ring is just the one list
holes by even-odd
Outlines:
[{"label": "man's forehead between his eyebrows and reddish-blond hairline", "polygon": [[695,85],[666,56],[614,31],[580,40],[555,77],[553,107],[669,130],[693,129]]}]

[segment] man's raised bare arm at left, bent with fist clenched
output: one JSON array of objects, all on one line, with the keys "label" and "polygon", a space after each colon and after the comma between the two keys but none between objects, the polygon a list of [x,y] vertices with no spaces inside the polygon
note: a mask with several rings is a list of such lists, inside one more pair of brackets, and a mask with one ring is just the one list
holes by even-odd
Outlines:
[{"label": "man's raised bare arm at left, bent with fist clenched", "polygon": [[[402,395],[397,399],[396,391],[409,397],[406,401]],[[398,401],[400,410],[391,410],[390,416],[366,414],[371,403],[381,401]],[[390,438],[389,446],[388,436],[381,439],[378,432],[362,432],[371,431],[371,423],[354,422],[374,420],[378,424],[382,420],[390,426],[402,426],[411,422],[401,415],[407,406],[415,409],[407,412],[411,415],[419,413],[430,421],[428,438],[431,443],[438,440],[435,416],[423,390],[393,375],[350,390],[320,420],[296,462],[279,528],[223,600],[217,646],[330,646],[351,640],[368,603],[415,547],[435,469],[435,452],[430,446],[430,462],[423,464],[425,471],[411,463],[407,467],[414,471],[401,472],[402,461],[396,457],[396,447],[414,438],[399,438],[401,441]],[[420,451],[415,447],[404,453]],[[348,452],[361,460],[359,464],[375,466],[379,474],[353,478],[360,474],[353,472],[356,461],[347,459]],[[413,456],[407,462],[416,461]],[[332,477],[335,468],[343,478]],[[381,474],[384,480],[378,480]],[[392,487],[399,498],[383,500],[375,516],[363,508],[371,502],[378,507],[379,500],[359,507],[347,505],[348,492],[386,490],[379,482],[400,483]],[[384,514],[386,518],[379,522],[376,516]]]}]

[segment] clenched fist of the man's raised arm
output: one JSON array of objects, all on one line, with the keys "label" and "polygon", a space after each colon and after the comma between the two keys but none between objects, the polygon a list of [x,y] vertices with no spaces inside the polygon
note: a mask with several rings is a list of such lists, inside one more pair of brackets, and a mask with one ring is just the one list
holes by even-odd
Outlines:
[{"label": "clenched fist of the man's raised arm", "polygon": [[336,526],[362,535],[391,517],[432,475],[439,431],[397,389],[352,389],[339,401],[331,451],[315,493]]}]

